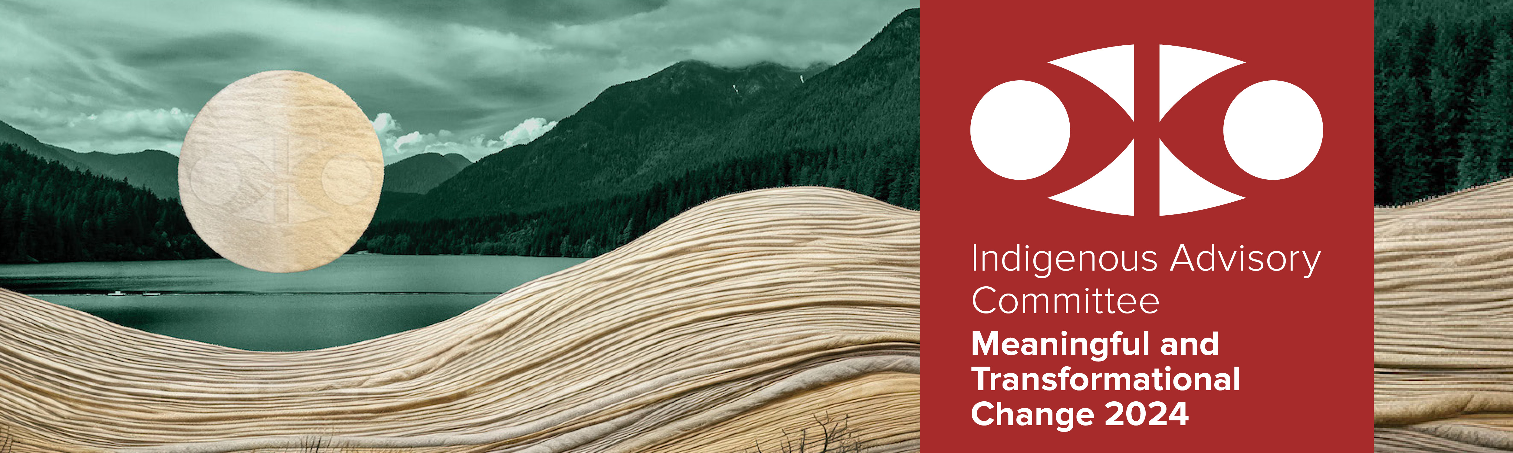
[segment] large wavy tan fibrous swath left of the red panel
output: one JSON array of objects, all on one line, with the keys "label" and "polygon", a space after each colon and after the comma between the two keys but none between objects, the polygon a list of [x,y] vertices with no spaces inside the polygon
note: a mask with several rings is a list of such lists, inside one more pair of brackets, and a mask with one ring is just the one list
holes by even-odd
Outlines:
[{"label": "large wavy tan fibrous swath left of the red panel", "polygon": [[741,451],[829,415],[911,451],[918,246],[918,211],[746,192],[451,320],[304,352],[0,290],[0,426],[15,451]]}]

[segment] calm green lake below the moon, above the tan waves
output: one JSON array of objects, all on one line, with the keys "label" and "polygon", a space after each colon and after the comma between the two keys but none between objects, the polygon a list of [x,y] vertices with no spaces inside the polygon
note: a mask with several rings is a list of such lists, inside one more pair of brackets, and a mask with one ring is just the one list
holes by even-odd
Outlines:
[{"label": "calm green lake below the moon, above the tan waves", "polygon": [[295,273],[227,260],[0,264],[0,287],[148,332],[303,350],[424,328],[584,260],[343,255]]}]

